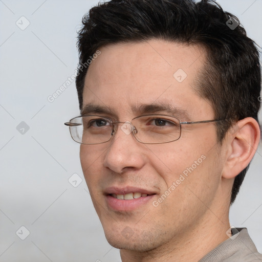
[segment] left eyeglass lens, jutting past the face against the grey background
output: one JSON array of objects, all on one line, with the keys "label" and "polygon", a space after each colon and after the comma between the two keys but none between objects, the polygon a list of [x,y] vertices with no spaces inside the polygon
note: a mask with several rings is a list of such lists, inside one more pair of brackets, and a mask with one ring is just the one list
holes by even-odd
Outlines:
[{"label": "left eyeglass lens, jutting past the face against the grey background", "polygon": [[111,138],[113,124],[109,118],[100,116],[83,116],[71,120],[72,138],[82,144],[100,144]]}]

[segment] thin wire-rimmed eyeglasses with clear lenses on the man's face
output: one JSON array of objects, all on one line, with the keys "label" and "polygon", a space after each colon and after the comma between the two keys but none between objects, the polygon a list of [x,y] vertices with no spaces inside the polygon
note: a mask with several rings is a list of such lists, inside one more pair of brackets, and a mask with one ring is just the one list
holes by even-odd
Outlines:
[{"label": "thin wire-rimmed eyeglasses with clear lenses on the man's face", "polygon": [[79,116],[64,123],[69,126],[71,137],[80,144],[102,144],[109,141],[116,133],[117,124],[121,130],[133,134],[143,144],[162,144],[176,141],[181,136],[182,124],[200,124],[221,120],[180,122],[177,117],[167,115],[144,115],[135,117],[132,122],[113,122],[103,116]]}]

